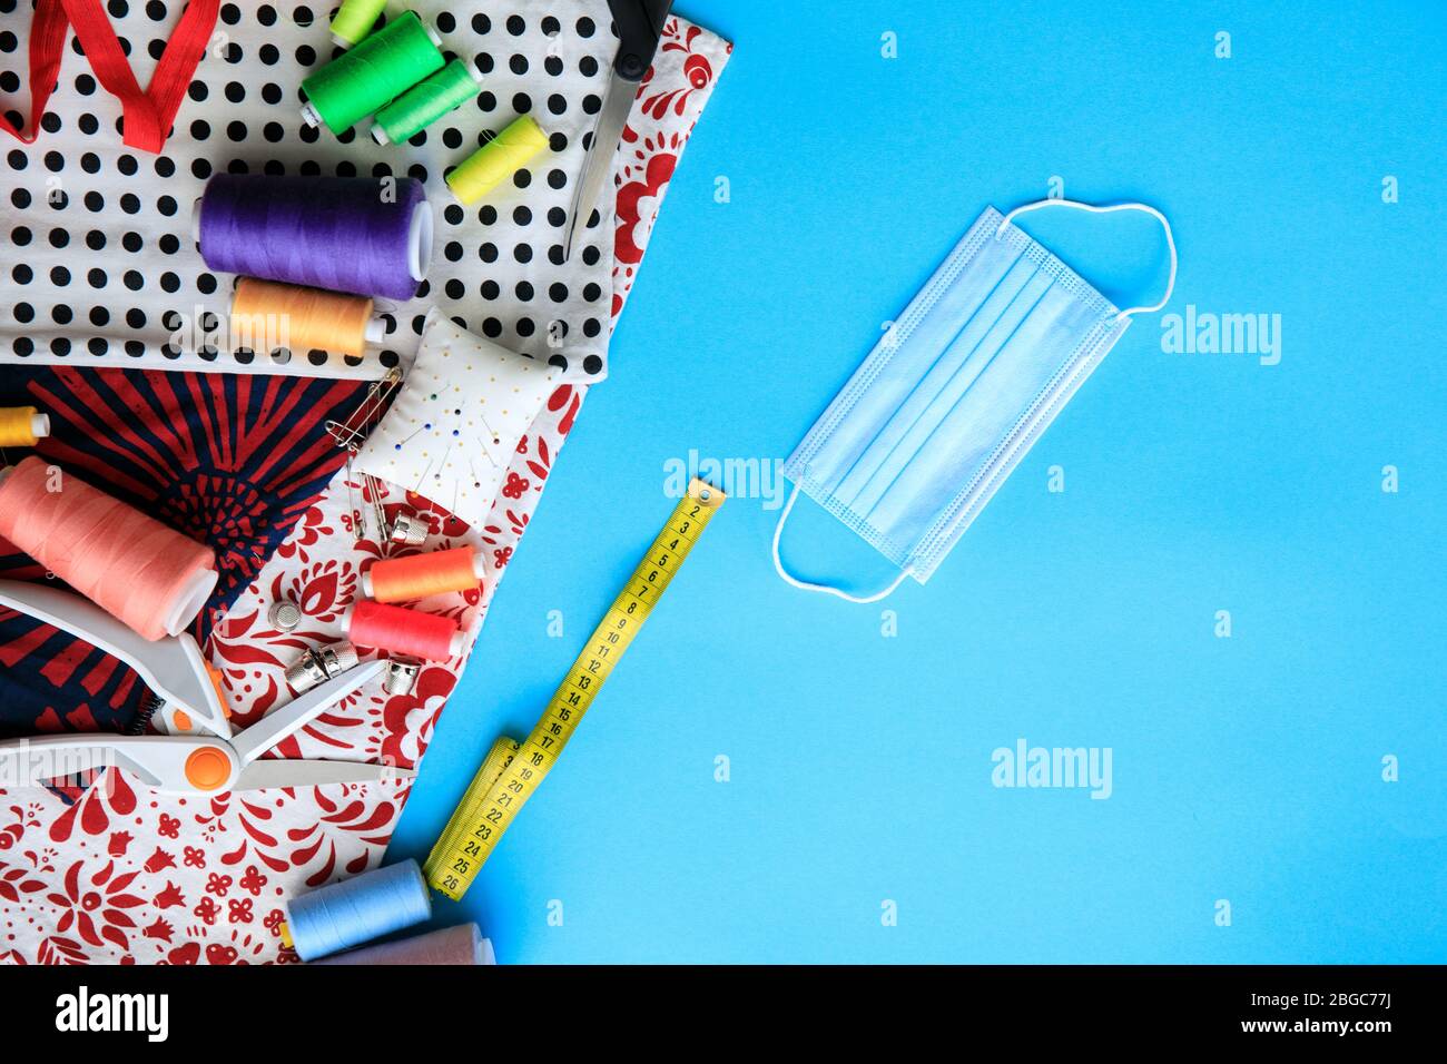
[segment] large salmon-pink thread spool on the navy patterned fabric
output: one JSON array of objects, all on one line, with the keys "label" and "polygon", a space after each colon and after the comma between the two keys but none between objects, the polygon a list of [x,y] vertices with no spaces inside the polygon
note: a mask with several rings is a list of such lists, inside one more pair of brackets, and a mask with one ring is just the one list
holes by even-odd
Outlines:
[{"label": "large salmon-pink thread spool on the navy patterned fabric", "polygon": [[216,589],[216,556],[41,459],[0,470],[0,536],[148,640],[179,636]]}]

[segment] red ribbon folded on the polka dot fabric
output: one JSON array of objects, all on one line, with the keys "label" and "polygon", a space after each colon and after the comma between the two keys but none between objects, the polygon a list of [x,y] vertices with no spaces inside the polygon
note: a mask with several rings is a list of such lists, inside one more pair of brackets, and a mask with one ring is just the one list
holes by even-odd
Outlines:
[{"label": "red ribbon folded on the polka dot fabric", "polygon": [[30,135],[20,133],[3,114],[0,129],[25,143],[35,143],[45,104],[59,80],[65,32],[74,26],[97,81],[120,100],[124,142],[145,152],[159,152],[191,75],[201,62],[201,52],[211,39],[218,7],[220,0],[191,0],[187,4],[150,75],[150,87],[142,93],[101,0],[39,0],[30,22]]}]

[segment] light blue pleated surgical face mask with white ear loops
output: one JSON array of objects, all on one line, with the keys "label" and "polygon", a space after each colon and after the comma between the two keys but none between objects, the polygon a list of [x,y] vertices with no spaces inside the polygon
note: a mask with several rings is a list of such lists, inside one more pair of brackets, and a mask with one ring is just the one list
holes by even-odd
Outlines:
[{"label": "light blue pleated surgical face mask with white ear loops", "polygon": [[[1171,250],[1166,294],[1117,310],[1011,224],[1042,207],[1150,214]],[[925,583],[1132,316],[1166,305],[1175,274],[1171,224],[1145,204],[981,214],[784,463],[794,489],[774,530],[778,575],[851,602],[877,602],[906,576]],[[800,491],[899,566],[894,582],[855,596],[792,576],[778,540]]]}]

